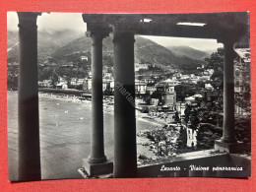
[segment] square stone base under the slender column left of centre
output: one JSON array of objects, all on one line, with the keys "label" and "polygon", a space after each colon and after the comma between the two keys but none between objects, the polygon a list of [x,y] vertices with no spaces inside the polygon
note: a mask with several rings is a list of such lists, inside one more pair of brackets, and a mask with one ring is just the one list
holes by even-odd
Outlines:
[{"label": "square stone base under the slender column left of centre", "polygon": [[113,162],[109,160],[100,163],[93,163],[88,159],[83,159],[82,164],[90,176],[113,173]]}]

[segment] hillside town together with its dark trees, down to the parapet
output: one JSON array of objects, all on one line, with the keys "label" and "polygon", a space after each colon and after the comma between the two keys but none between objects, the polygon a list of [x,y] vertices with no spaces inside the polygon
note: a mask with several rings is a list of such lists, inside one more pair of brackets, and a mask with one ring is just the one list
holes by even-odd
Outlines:
[{"label": "hillside town together with its dark trees, down to the parapet", "polygon": [[[250,49],[237,48],[236,58],[234,60],[234,93],[235,93],[235,114],[237,116],[250,116]],[[161,69],[155,64],[135,63],[135,94],[137,116],[152,122],[158,122],[162,125],[172,127],[184,126],[185,133],[182,152],[194,150],[212,149],[215,139],[220,139],[223,124],[223,66],[222,64],[211,63],[214,56],[219,55],[223,59],[223,48],[219,48],[211,57],[206,58],[206,64],[192,70],[193,73],[182,73],[180,70]],[[52,62],[52,58],[39,63],[39,70],[48,66],[56,67],[51,70],[52,76],[49,79],[38,81],[39,91],[42,93],[53,93],[57,96],[77,96],[81,100],[91,100],[92,97],[92,71],[91,58],[87,53],[74,53],[77,55],[76,62],[65,63],[59,66]],[[9,64],[13,67],[16,64]],[[71,77],[73,71],[79,71],[81,65],[87,66],[86,77]],[[60,70],[61,69],[61,70]],[[60,72],[57,72],[57,71]],[[59,75],[66,71],[66,75]],[[104,66],[102,71],[102,92],[103,103],[106,107],[113,107],[114,95],[114,77],[113,66]],[[161,75],[160,75],[161,74]],[[163,74],[163,75],[162,75]],[[41,75],[43,77],[43,75]],[[44,75],[45,76],[45,75]],[[40,77],[40,74],[39,74]],[[205,130],[211,130],[213,137],[209,133],[201,134],[202,141],[199,141],[199,127]],[[237,136],[243,142],[250,142],[248,126],[244,126]],[[246,130],[247,129],[247,130]],[[203,129],[201,129],[203,130]],[[245,131],[246,130],[246,131]],[[214,134],[216,133],[216,135]],[[208,135],[207,135],[208,134]],[[138,135],[150,137],[149,133],[139,133]],[[152,133],[150,133],[152,135]],[[157,136],[158,137],[158,134]],[[156,138],[155,138],[156,139]],[[154,139],[153,139],[154,140]],[[156,141],[156,146],[160,140]],[[145,144],[144,144],[145,145]],[[157,147],[155,154],[165,155]],[[165,149],[167,144],[165,143]],[[180,149],[180,147],[179,147]],[[173,149],[172,149],[173,151]],[[173,155],[175,153],[167,155]]]}]

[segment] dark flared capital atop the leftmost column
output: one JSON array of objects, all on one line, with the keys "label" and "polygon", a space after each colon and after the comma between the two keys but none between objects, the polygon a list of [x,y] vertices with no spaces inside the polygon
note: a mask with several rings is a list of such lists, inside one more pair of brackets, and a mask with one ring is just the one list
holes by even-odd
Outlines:
[{"label": "dark flared capital atop the leftmost column", "polygon": [[40,16],[40,12],[17,12],[19,18],[19,28],[37,28],[36,20],[37,16]]}]

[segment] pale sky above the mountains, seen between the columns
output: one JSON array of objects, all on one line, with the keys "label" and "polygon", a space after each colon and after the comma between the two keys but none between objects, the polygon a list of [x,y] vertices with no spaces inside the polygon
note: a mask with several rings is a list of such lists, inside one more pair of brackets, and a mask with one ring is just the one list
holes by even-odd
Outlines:
[{"label": "pale sky above the mountains, seen between the columns", "polygon": [[[87,25],[82,19],[81,13],[43,13],[37,18],[38,31],[64,31],[74,30],[86,32]],[[7,29],[18,31],[18,16],[16,12],[8,12]],[[217,43],[216,39],[181,38],[181,37],[162,37],[162,36],[143,36],[147,37],[163,46],[190,46],[192,48],[209,51],[223,47],[222,43]]]}]

